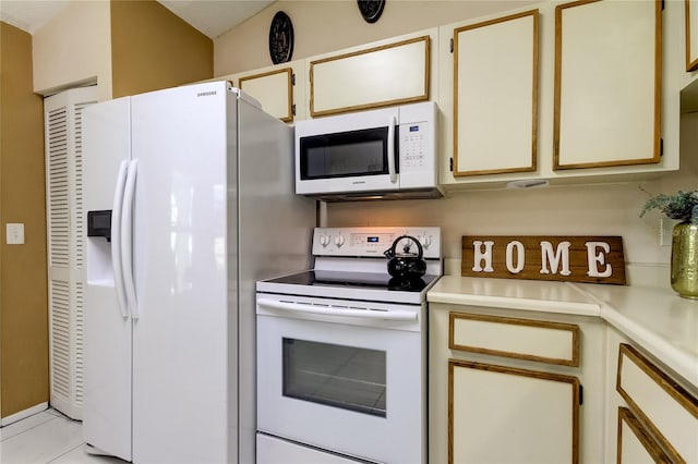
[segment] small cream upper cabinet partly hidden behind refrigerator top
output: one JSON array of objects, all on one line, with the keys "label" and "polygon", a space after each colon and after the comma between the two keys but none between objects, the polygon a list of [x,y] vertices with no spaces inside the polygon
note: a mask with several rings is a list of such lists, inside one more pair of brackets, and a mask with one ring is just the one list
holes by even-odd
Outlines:
[{"label": "small cream upper cabinet partly hidden behind refrigerator top", "polygon": [[260,101],[266,112],[284,122],[306,118],[304,61],[292,61],[221,78],[231,81],[236,87]]}]

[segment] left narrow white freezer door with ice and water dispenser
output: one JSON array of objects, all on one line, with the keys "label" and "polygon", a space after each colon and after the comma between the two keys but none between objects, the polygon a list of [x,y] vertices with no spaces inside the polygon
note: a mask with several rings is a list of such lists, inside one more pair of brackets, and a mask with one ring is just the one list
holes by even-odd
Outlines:
[{"label": "left narrow white freezer door with ice and water dispenser", "polygon": [[[130,111],[127,97],[83,113],[86,211],[113,208],[120,167],[130,157]],[[99,452],[131,461],[131,318],[118,300],[115,246],[104,236],[85,237],[83,437]]]}]

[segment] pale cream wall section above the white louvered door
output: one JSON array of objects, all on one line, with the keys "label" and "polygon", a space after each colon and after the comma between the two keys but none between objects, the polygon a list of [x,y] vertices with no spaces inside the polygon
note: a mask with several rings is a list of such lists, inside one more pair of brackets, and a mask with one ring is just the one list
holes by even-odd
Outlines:
[{"label": "pale cream wall section above the white louvered door", "polygon": [[111,98],[109,0],[72,1],[33,36],[34,91],[47,96],[81,84]]}]

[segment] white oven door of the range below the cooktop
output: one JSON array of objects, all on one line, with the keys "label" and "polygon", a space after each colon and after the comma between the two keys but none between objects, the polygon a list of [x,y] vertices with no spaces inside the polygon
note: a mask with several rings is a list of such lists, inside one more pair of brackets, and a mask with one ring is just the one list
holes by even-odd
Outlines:
[{"label": "white oven door of the range below the cooktop", "polygon": [[257,429],[374,462],[424,462],[424,309],[284,298],[257,294]]}]

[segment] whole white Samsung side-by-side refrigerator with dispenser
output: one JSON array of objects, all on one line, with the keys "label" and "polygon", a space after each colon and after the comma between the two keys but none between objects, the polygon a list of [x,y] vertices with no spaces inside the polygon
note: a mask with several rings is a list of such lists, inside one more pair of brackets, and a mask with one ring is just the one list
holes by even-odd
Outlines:
[{"label": "whole white Samsung side-by-side refrigerator with dispenser", "polygon": [[134,463],[253,463],[256,280],[310,266],[292,129],[226,82],[94,105],[83,435]]}]

